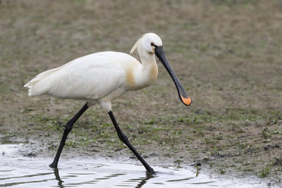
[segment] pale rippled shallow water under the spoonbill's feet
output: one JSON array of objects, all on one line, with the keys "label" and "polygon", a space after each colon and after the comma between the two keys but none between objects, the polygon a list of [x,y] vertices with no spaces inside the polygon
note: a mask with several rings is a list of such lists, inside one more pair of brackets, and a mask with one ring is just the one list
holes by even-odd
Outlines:
[{"label": "pale rippled shallow water under the spoonbill's feet", "polygon": [[23,144],[0,144],[0,187],[264,187],[204,174],[196,177],[192,168],[152,166],[157,175],[150,176],[142,165],[109,158],[61,158],[54,170],[48,166],[53,158],[23,156],[24,151]]}]

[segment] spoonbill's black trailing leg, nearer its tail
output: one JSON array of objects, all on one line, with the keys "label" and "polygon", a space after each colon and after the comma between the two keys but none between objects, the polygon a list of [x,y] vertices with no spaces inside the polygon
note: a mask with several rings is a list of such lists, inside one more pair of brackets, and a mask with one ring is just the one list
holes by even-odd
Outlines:
[{"label": "spoonbill's black trailing leg, nearer its tail", "polygon": [[59,162],[59,158],[61,156],[61,151],[63,150],[63,146],[66,143],[66,138],[68,137],[68,133],[71,132],[71,129],[73,128],[73,124],[76,122],[76,120],[78,120],[78,118],[80,118],[80,116],[82,115],[82,113],[84,113],[87,110],[88,106],[87,104],[85,104],[80,111],[78,111],[78,113],[75,114],[75,116],[73,116],[73,118],[71,118],[71,120],[68,121],[68,123],[66,124],[66,128],[63,131],[63,137],[61,139],[61,143],[59,146],[59,149],[56,153],[56,156],[54,158],[53,163],[51,163],[51,165],[49,165],[49,167],[51,168],[55,168],[58,165]]}]

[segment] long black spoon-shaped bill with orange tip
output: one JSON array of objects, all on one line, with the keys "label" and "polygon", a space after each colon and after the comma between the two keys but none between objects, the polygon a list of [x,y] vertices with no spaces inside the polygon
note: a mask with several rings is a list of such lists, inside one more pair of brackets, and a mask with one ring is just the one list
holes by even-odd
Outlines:
[{"label": "long black spoon-shaped bill with orange tip", "polygon": [[171,75],[171,78],[174,84],[176,84],[176,89],[177,89],[180,101],[182,101],[183,104],[185,104],[185,106],[189,106],[192,102],[191,98],[188,95],[188,93],[185,92],[185,89],[183,88],[183,86],[180,84],[180,81],[178,80],[176,73],[173,72],[171,65],[169,64],[168,60],[166,59],[166,54],[164,53],[163,46],[155,46],[154,53],[159,58],[159,61],[161,61],[161,63],[164,65],[164,68],[166,68],[169,75]]}]

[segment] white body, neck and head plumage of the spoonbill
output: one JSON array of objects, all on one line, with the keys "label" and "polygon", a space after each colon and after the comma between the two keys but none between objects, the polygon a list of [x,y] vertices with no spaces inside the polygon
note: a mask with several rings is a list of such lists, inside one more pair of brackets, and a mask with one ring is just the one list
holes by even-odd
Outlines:
[{"label": "white body, neck and head plumage of the spoonbill", "polygon": [[157,79],[154,54],[140,49],[140,42],[148,37],[161,45],[157,35],[143,35],[132,49],[138,50],[142,64],[133,56],[121,52],[90,54],[40,73],[25,84],[29,88],[28,95],[46,94],[57,98],[81,99],[90,106],[99,103],[110,111],[112,100],[129,90],[147,87]]}]

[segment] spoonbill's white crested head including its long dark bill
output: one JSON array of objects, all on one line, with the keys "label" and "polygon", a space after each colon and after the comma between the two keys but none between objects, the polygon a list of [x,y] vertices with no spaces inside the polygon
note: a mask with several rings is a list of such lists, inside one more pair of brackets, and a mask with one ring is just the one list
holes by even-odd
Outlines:
[{"label": "spoonbill's white crested head including its long dark bill", "polygon": [[176,73],[174,73],[171,65],[168,63],[166,54],[164,52],[163,43],[158,35],[154,33],[142,35],[142,37],[138,39],[133,46],[133,49],[131,49],[130,54],[133,54],[135,51],[145,51],[145,53],[147,52],[148,54],[156,55],[159,58],[159,61],[161,61],[161,63],[164,65],[164,68],[166,68],[168,71],[168,74],[171,75],[174,84],[176,84],[180,101],[182,101],[185,106],[189,106],[191,104],[192,101],[190,96],[187,92],[185,92],[185,89],[180,84]]}]

